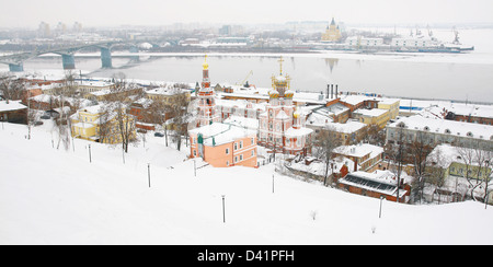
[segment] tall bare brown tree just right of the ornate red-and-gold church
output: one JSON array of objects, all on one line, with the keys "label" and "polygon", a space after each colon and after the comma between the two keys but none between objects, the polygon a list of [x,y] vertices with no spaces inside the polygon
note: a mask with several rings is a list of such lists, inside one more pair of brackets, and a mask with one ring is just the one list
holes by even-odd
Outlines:
[{"label": "tall bare brown tree just right of the ornate red-and-gold church", "polygon": [[[332,175],[332,172],[329,173],[331,169],[331,161],[333,150],[341,144],[341,140],[336,138],[335,128],[326,127],[319,131],[313,141],[313,155],[323,162],[325,162],[325,174],[323,176],[323,185],[326,186],[329,176]],[[332,186],[333,181],[329,179],[329,184]]]}]

